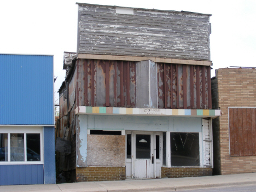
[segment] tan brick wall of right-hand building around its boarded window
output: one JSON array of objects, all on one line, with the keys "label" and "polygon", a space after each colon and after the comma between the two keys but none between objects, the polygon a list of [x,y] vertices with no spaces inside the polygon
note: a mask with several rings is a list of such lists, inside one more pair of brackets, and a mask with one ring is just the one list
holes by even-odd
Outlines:
[{"label": "tan brick wall of right-hand building around its boarded window", "polygon": [[218,163],[214,162],[214,166],[219,167],[220,174],[256,172],[256,156],[229,155],[228,121],[228,107],[256,107],[256,69],[220,68],[216,79],[219,98],[216,107],[222,110],[222,116],[213,121],[213,139],[219,138],[220,152],[219,157],[214,154]]}]

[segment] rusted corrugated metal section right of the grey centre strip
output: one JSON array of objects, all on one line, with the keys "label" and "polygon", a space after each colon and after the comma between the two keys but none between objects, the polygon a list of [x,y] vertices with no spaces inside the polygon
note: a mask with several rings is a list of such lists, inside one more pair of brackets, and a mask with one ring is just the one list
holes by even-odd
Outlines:
[{"label": "rusted corrugated metal section right of the grey centre strip", "polygon": [[[207,66],[208,67],[208,66]],[[209,67],[210,69],[210,67]],[[158,63],[158,108],[211,109],[206,66]]]}]

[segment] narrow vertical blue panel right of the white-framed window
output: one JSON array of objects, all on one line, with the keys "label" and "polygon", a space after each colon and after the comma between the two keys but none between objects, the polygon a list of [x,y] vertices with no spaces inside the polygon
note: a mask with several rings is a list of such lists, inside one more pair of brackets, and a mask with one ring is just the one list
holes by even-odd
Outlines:
[{"label": "narrow vertical blue panel right of the white-framed window", "polygon": [[44,184],[54,184],[55,182],[54,127],[44,127]]}]

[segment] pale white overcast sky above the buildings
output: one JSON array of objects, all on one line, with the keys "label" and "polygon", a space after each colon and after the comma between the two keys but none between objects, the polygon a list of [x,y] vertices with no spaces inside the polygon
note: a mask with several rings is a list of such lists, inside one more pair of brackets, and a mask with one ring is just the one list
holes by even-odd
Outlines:
[{"label": "pale white overcast sky above the buildings", "polygon": [[65,80],[63,52],[77,51],[76,2],[212,14],[211,76],[218,68],[256,67],[256,0],[0,1],[0,53],[54,55],[56,102]]}]

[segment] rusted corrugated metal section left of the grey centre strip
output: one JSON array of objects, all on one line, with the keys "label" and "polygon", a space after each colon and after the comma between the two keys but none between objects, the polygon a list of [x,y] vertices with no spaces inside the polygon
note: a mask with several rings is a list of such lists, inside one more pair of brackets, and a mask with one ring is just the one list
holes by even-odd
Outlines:
[{"label": "rusted corrugated metal section left of the grey centre strip", "polygon": [[[82,59],[83,69],[78,78],[83,78],[84,90],[79,102],[85,106],[135,107],[136,63],[130,61]],[[83,76],[83,77],[82,77]],[[82,85],[82,84],[81,84]],[[78,89],[80,90],[80,89]],[[82,95],[80,95],[82,93]],[[129,101],[127,101],[129,100]]]}]

